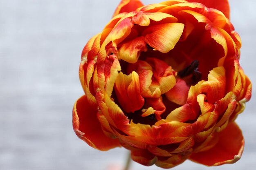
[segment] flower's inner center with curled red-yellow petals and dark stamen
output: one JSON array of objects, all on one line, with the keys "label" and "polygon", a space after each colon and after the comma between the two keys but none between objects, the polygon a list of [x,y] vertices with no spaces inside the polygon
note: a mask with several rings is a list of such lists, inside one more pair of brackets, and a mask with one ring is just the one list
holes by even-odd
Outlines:
[{"label": "flower's inner center with curled red-yellow petals and dark stamen", "polygon": [[171,66],[155,57],[121,67],[126,71],[119,73],[112,98],[117,98],[116,103],[130,121],[149,125],[165,119],[171,111],[185,104],[189,86],[183,78],[190,76],[197,81],[199,76],[196,76],[200,75],[197,60],[178,76]]}]

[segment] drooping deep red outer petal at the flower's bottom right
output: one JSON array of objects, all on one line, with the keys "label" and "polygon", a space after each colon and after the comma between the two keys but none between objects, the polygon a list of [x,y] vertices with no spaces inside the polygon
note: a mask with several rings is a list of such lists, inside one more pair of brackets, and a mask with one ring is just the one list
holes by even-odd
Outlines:
[{"label": "drooping deep red outer petal at the flower's bottom right", "polygon": [[219,166],[238,161],[245,144],[238,125],[235,122],[230,123],[218,136],[216,146],[204,152],[193,153],[189,159],[206,166]]}]

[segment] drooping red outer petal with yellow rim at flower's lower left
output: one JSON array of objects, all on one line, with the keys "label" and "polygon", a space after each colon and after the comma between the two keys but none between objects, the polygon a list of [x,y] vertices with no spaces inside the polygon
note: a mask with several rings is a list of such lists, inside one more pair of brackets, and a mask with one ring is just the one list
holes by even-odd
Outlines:
[{"label": "drooping red outer petal with yellow rim at flower's lower left", "polygon": [[79,98],[73,108],[73,128],[76,135],[89,146],[106,151],[121,146],[118,139],[107,137],[97,119],[97,108],[89,104],[85,95]]}]

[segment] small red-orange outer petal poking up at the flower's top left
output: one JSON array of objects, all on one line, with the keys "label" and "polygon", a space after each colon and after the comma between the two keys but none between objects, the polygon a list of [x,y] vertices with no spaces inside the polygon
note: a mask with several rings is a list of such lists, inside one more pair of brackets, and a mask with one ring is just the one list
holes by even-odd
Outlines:
[{"label": "small red-orange outer petal poking up at the flower's top left", "polygon": [[132,12],[137,8],[144,6],[140,0],[122,0],[118,5],[113,17],[123,12]]}]

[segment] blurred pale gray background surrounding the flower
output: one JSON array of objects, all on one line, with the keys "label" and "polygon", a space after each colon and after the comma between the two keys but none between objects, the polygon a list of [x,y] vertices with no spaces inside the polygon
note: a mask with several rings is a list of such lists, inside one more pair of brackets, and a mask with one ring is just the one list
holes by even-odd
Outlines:
[{"label": "blurred pale gray background surrounding the flower", "polygon": [[[72,129],[72,107],[83,95],[81,51],[117,4],[119,0],[0,0],[0,170],[106,170],[124,164],[125,149],[94,150]],[[243,42],[240,64],[255,85],[256,1],[230,0],[230,6],[231,22]],[[210,168],[186,161],[173,170],[255,170],[255,97],[253,89],[237,119],[246,141],[240,161]],[[130,168],[161,169],[138,163]]]}]

